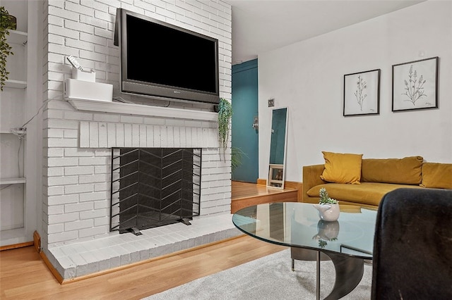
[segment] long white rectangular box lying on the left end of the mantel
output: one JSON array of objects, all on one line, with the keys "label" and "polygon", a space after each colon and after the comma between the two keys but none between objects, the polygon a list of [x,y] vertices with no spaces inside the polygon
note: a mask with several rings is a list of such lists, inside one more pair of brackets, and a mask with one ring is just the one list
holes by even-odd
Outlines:
[{"label": "long white rectangular box lying on the left end of the mantel", "polygon": [[113,101],[113,85],[68,78],[64,80],[64,99]]}]

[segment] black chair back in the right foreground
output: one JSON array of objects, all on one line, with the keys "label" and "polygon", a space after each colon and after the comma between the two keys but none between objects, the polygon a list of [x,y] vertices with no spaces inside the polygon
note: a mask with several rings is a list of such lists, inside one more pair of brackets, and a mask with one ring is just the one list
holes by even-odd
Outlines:
[{"label": "black chair back in the right foreground", "polygon": [[452,189],[396,189],[379,205],[371,299],[452,299]]}]

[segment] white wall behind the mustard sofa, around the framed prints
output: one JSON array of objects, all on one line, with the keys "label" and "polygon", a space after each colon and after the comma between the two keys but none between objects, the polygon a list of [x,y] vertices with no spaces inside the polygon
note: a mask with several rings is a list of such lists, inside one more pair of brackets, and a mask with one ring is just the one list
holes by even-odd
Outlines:
[{"label": "white wall behind the mustard sofa, around the framed prints", "polygon": [[[439,56],[439,109],[393,113],[392,65]],[[343,75],[381,69],[379,115],[343,117]],[[258,56],[259,177],[271,110],[289,108],[285,180],[323,163],[321,151],[452,163],[452,1],[427,1]]]}]

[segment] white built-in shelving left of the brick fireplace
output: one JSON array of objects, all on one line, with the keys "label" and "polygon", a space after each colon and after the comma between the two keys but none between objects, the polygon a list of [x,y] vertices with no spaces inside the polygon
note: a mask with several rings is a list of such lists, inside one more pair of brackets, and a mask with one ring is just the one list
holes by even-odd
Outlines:
[{"label": "white built-in shelving left of the brick fireplace", "polygon": [[27,107],[30,101],[35,101],[28,97],[36,93],[27,90],[30,78],[28,32],[25,32],[29,18],[28,1],[6,0],[1,5],[18,20],[18,30],[10,30],[6,37],[13,55],[6,58],[9,75],[3,92],[0,92],[0,246],[7,246],[32,241],[32,230],[36,227],[34,224],[30,227],[29,221],[29,210],[33,207],[30,200],[35,201],[35,196],[30,195],[30,199],[27,196],[27,141],[11,132],[12,128],[25,123]]}]

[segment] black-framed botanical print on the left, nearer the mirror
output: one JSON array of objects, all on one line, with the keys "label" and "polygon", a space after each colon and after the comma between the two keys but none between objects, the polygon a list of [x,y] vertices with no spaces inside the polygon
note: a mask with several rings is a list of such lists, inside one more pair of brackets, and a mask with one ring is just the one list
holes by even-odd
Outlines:
[{"label": "black-framed botanical print on the left, nearer the mirror", "polygon": [[380,113],[380,69],[344,75],[343,115]]}]

